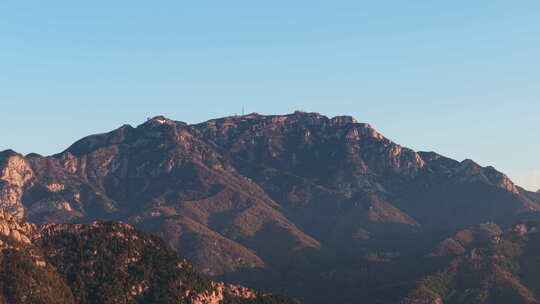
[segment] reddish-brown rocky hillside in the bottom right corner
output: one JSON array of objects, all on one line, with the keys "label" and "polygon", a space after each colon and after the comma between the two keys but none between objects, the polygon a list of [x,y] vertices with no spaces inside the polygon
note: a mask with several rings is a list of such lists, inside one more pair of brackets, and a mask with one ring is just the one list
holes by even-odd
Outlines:
[{"label": "reddish-brown rocky hillside in the bottom right corner", "polygon": [[430,259],[446,264],[418,281],[403,304],[540,303],[539,222],[508,229],[485,223],[441,242]]}]

